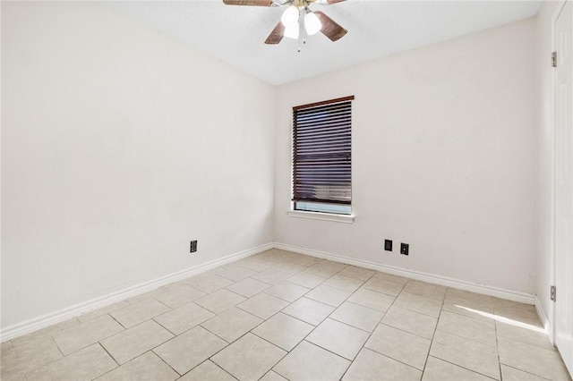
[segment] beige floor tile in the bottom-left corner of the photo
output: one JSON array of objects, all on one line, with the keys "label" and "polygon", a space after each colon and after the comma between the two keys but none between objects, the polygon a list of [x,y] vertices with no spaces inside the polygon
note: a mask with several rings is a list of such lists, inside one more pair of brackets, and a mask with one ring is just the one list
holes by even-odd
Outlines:
[{"label": "beige floor tile in the bottom-left corner of the photo", "polygon": [[41,335],[32,342],[13,347],[0,353],[2,379],[14,378],[39,368],[49,362],[58,360],[62,354],[50,336]]}]

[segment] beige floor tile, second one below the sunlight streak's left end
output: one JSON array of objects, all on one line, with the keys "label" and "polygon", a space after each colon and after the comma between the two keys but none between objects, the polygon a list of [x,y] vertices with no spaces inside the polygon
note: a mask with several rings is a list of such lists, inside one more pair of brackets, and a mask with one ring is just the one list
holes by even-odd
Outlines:
[{"label": "beige floor tile, second one below the sunlight streak's left end", "polygon": [[500,363],[495,346],[438,329],[433,336],[430,355],[484,376],[500,379]]}]

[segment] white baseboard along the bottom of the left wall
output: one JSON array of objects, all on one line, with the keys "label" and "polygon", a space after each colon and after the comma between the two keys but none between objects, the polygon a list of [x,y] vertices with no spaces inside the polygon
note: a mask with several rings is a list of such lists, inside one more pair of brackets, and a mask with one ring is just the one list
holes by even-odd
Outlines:
[{"label": "white baseboard along the bottom of the left wall", "polygon": [[90,301],[84,301],[65,309],[59,309],[37,318],[30,318],[28,320],[22,321],[21,323],[14,324],[12,326],[6,326],[0,333],[0,342],[4,343],[7,340],[12,340],[13,338],[23,334],[30,334],[32,332],[38,331],[38,329],[52,326],[70,318],[79,317],[94,309],[101,309],[117,301],[124,301],[125,299],[132,298],[133,296],[140,295],[141,293],[150,292],[166,284],[172,284],[174,282],[181,281],[185,278],[188,278],[189,276],[200,274],[204,271],[210,270],[211,268],[226,265],[230,262],[235,262],[235,260],[241,258],[250,257],[262,251],[272,249],[273,247],[274,244],[272,242],[265,243],[252,249],[243,250],[235,254],[228,255],[227,257],[211,260],[210,262],[190,267],[173,274],[161,276],[157,279],[153,279],[142,284],[136,284],[124,290],[112,292]]}]

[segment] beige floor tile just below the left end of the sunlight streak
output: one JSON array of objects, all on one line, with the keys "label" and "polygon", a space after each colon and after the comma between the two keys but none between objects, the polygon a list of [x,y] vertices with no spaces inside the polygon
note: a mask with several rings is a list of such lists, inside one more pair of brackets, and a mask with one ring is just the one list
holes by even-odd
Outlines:
[{"label": "beige floor tile just below the left end of the sunlight streak", "polygon": [[492,321],[476,320],[448,311],[441,312],[438,329],[480,343],[495,345],[497,340]]}]

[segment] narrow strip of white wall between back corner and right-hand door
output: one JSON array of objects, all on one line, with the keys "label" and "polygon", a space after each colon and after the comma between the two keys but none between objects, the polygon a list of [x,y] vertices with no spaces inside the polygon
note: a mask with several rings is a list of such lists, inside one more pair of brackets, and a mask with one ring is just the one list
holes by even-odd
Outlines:
[{"label": "narrow strip of white wall between back corner and right-hand door", "polygon": [[537,260],[535,294],[547,318],[553,318],[550,286],[553,284],[553,77],[550,58],[552,54],[552,17],[557,2],[543,3],[537,15],[537,89],[539,114],[537,117]]}]

